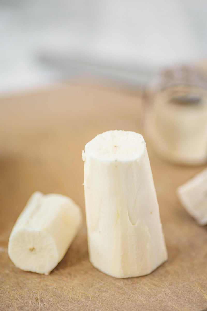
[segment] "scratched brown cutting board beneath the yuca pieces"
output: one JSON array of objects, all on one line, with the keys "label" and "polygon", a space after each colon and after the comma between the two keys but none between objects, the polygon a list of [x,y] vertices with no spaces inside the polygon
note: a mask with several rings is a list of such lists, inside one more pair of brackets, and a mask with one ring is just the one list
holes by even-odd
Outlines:
[{"label": "scratched brown cutting board beneath the yuca pieces", "polygon": [[166,163],[149,144],[169,255],[161,267],[130,279],[103,274],[89,262],[85,224],[49,276],[21,271],[8,257],[11,229],[34,191],[72,197],[85,217],[82,149],[109,129],[139,132],[139,116],[138,94],[84,83],[0,99],[0,310],[207,308],[207,227],[175,194],[204,166]]}]

